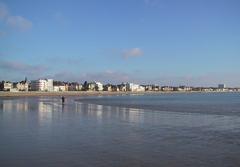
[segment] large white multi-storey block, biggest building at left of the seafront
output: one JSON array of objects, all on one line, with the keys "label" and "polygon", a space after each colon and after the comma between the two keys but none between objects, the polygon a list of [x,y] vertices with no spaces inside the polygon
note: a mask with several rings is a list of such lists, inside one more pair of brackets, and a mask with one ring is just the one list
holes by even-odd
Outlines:
[{"label": "large white multi-storey block, biggest building at left of the seafront", "polygon": [[32,91],[53,91],[53,79],[38,79],[31,81]]}]

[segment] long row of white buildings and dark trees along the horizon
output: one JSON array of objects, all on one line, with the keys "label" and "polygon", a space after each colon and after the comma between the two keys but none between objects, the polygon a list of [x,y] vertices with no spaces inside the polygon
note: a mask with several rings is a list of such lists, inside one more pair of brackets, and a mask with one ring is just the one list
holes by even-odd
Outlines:
[{"label": "long row of white buildings and dark trees along the horizon", "polygon": [[37,79],[29,81],[27,77],[18,82],[1,81],[0,92],[240,92],[240,87],[229,87],[218,84],[211,87],[172,86],[159,84],[138,83],[101,83],[85,81],[84,83],[71,81],[56,81],[53,79]]}]

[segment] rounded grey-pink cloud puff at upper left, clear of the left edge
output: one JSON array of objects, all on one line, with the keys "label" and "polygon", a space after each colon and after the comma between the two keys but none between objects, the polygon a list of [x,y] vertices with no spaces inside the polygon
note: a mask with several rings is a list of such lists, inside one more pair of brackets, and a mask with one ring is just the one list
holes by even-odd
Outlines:
[{"label": "rounded grey-pink cloud puff at upper left, clear of the left edge", "polygon": [[7,25],[25,31],[32,27],[32,22],[22,16],[9,16],[7,18]]}]

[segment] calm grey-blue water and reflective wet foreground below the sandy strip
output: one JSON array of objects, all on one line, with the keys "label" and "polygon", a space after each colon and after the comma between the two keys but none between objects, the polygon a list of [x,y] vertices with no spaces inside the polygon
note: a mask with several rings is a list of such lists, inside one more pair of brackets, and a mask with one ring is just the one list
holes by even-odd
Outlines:
[{"label": "calm grey-blue water and reflective wet foreground below the sandy strip", "polygon": [[240,166],[240,94],[0,98],[0,166]]}]

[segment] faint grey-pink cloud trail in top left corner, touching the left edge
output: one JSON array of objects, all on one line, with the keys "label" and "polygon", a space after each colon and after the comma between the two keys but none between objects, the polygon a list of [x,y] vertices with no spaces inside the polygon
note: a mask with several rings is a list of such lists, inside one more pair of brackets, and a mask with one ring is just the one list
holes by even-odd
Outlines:
[{"label": "faint grey-pink cloud trail in top left corner, touching the left edge", "polygon": [[11,15],[5,4],[0,3],[0,20],[7,26],[26,31],[32,28],[32,22],[23,16]]}]

